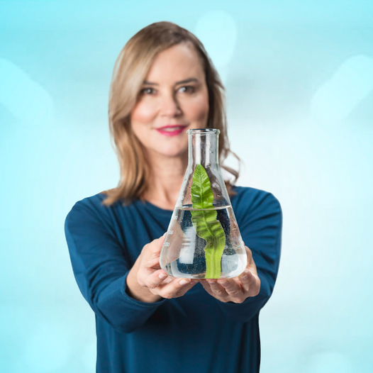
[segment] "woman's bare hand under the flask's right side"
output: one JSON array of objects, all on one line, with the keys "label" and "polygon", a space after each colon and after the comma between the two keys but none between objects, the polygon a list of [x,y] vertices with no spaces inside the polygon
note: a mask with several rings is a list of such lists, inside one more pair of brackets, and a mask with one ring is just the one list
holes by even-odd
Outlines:
[{"label": "woman's bare hand under the flask's right side", "polygon": [[243,303],[249,296],[257,296],[260,291],[260,278],[257,267],[252,259],[252,252],[245,246],[247,252],[247,266],[245,271],[233,279],[206,279],[201,284],[204,289],[222,302]]}]

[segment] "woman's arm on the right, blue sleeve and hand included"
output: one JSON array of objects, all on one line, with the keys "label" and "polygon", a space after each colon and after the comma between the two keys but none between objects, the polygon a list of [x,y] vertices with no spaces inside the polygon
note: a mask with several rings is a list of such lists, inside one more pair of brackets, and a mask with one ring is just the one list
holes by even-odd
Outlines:
[{"label": "woman's arm on the right, blue sleeve and hand included", "polygon": [[[241,279],[244,273],[228,281],[202,282],[206,291],[218,299],[223,312],[238,322],[249,321],[265,306],[279,269],[282,208],[272,194],[263,193],[240,223],[240,233],[252,254],[252,258],[250,252],[248,255],[247,279]],[[228,286],[221,285],[223,282]]]}]

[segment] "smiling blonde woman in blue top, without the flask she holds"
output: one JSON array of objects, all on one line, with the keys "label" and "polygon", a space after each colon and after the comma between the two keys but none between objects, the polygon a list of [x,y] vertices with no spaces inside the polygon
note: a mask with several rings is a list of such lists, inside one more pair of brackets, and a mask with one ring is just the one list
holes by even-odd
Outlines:
[{"label": "smiling blonde woman in blue top, without the flask she holds", "polygon": [[187,169],[187,129],[218,128],[221,84],[203,45],[152,23],[125,45],[111,82],[118,187],[78,201],[65,233],[74,276],[96,315],[96,372],[259,372],[260,309],[279,267],[282,210],[267,191],[226,182],[246,247],[234,279],[175,279],[159,257]]}]

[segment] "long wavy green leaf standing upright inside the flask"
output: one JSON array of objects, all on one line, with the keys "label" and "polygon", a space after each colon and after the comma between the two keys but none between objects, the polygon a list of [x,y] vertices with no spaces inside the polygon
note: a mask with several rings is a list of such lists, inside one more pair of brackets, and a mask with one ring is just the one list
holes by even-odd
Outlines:
[{"label": "long wavy green leaf standing upright inside the flask", "polygon": [[[199,210],[191,211],[191,223],[196,234],[206,240],[206,279],[221,277],[221,256],[226,245],[226,233],[221,222],[216,219],[217,212],[213,210],[213,191],[206,169],[196,165],[191,184],[191,206]],[[206,208],[211,210],[206,211]]]}]

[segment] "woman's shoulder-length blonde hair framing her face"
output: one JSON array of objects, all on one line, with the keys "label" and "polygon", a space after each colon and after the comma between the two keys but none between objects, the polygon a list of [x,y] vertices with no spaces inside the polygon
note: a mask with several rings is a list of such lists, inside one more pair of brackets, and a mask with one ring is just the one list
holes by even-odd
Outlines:
[{"label": "woman's shoulder-length blonde hair framing her face", "polygon": [[237,181],[240,172],[223,165],[223,160],[231,153],[228,143],[226,109],[221,83],[213,63],[204,45],[198,38],[185,28],[171,22],[156,22],[141,29],[133,35],[121,50],[115,62],[108,102],[108,121],[111,138],[116,146],[116,153],[121,169],[121,179],[118,187],[103,191],[106,199],[103,204],[110,206],[118,200],[130,204],[133,199],[143,199],[150,179],[150,164],[145,157],[145,149],[136,138],[130,126],[130,113],[133,110],[140,87],[147,75],[155,56],[167,48],[179,43],[189,43],[194,46],[204,67],[208,89],[208,120],[206,128],[221,130],[218,144],[219,164],[235,179],[225,181],[228,194],[234,195],[231,189]]}]

